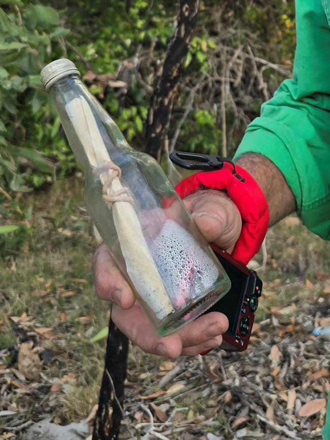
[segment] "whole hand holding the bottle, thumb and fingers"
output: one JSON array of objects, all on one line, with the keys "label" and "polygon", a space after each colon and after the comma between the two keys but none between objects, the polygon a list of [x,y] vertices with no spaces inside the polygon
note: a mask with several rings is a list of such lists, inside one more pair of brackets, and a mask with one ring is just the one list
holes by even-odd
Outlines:
[{"label": "whole hand holding the bottle, thumb and fingers", "polygon": [[[232,200],[223,192],[203,190],[183,202],[206,240],[232,252],[242,227]],[[94,254],[93,269],[98,296],[113,302],[114,323],[145,352],[174,359],[180,355],[195,356],[221,344],[228,320],[218,312],[203,315],[170,336],[158,336],[104,244]]]}]

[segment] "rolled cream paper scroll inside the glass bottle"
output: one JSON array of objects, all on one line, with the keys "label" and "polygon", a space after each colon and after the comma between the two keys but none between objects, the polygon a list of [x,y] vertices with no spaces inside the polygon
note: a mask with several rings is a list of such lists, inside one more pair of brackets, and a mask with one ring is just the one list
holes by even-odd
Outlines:
[{"label": "rolled cream paper scroll inside the glass bottle", "polygon": [[[65,110],[90,165],[100,169],[100,180],[106,189],[106,194],[129,196],[120,182],[118,171],[114,167],[107,166],[111,158],[86,99],[82,96],[74,98],[65,106]],[[116,177],[111,176],[113,173],[116,173]],[[107,184],[109,177],[111,183]],[[115,200],[112,204],[113,220],[127,274],[141,299],[155,313],[157,319],[162,320],[174,310],[149,251],[135,209],[130,201]]]}]

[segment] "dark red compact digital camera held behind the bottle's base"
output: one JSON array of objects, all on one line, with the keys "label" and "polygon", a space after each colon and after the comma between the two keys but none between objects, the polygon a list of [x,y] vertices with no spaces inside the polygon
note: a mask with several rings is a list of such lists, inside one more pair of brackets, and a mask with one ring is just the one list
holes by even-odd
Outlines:
[{"label": "dark red compact digital camera held behind the bottle's base", "polygon": [[217,246],[211,247],[227,273],[232,287],[206,313],[221,312],[228,318],[229,327],[222,335],[223,342],[220,348],[225,351],[244,351],[249,344],[262,281],[255,270],[249,269]]}]

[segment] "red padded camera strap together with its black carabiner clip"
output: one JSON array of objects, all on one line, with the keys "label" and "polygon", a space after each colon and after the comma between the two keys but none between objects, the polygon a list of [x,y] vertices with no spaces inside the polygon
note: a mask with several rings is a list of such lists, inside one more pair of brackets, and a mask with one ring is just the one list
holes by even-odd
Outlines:
[{"label": "red padded camera strap together with its black carabiner clip", "polygon": [[[170,157],[184,168],[200,170],[202,166],[205,170],[187,177],[176,186],[181,198],[209,188],[226,191],[234,201],[242,217],[242,230],[233,257],[247,264],[259,251],[269,224],[268,202],[258,183],[244,168],[227,158],[185,152],[176,152]],[[193,162],[189,162],[191,160]],[[210,169],[213,171],[206,171]]]}]

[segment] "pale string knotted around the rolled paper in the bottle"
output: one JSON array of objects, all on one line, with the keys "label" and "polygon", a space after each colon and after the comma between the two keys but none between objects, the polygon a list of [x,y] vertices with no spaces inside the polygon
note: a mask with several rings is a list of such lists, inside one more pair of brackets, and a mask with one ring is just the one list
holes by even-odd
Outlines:
[{"label": "pale string knotted around the rolled paper in the bottle", "polygon": [[121,177],[120,167],[112,160],[108,160],[107,162],[103,162],[101,165],[96,166],[96,168],[93,170],[93,173],[95,175],[107,173],[107,180],[103,184],[102,194],[103,199],[107,202],[109,209],[112,209],[112,206],[116,201],[127,201],[129,203],[133,203],[133,197],[127,194],[129,191],[127,187],[123,187],[117,191],[112,191],[109,193],[113,180],[116,177],[118,179]]}]

